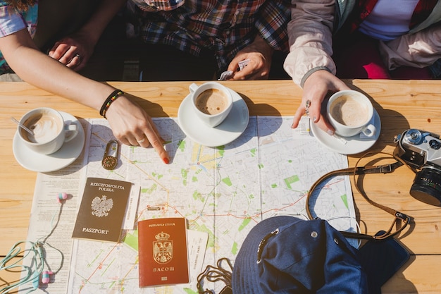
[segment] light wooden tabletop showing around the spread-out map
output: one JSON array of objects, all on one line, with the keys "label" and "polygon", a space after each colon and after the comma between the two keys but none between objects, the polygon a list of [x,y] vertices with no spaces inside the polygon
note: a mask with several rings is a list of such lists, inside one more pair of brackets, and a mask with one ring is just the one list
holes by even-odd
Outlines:
[{"label": "light wooden tabletop showing around the spread-out map", "polygon": [[[139,103],[151,116],[175,117],[188,93],[190,82],[110,82],[141,98]],[[240,93],[251,116],[292,116],[302,98],[302,90],[290,80],[223,82]],[[393,138],[408,128],[441,133],[441,81],[431,80],[347,80],[348,85],[371,97],[380,114],[380,139],[371,148],[391,153]],[[37,173],[27,171],[13,157],[12,140],[20,118],[38,106],[50,106],[79,118],[99,117],[94,109],[49,94],[25,82],[0,83],[0,256],[18,240],[25,240],[30,219]],[[361,154],[349,156],[354,166]],[[371,161],[379,154],[368,157]],[[411,259],[383,286],[383,293],[441,293],[441,208],[415,200],[409,195],[414,173],[405,167],[390,174],[366,176],[364,189],[369,197],[413,217],[399,240],[411,252]],[[356,213],[361,228],[375,233],[389,228],[392,218],[368,204],[354,189]],[[18,274],[1,272],[0,288]]]}]

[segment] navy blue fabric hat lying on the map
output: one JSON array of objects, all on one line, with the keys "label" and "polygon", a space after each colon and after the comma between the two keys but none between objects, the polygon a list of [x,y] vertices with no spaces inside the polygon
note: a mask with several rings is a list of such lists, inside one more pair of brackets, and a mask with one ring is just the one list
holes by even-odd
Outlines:
[{"label": "navy blue fabric hat lying on the map", "polygon": [[356,252],[327,221],[274,216],[245,238],[232,271],[232,292],[368,293]]}]

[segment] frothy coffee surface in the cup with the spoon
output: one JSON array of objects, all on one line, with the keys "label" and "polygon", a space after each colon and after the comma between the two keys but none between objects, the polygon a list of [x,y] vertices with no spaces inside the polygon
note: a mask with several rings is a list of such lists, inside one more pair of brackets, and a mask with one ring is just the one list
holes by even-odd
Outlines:
[{"label": "frothy coffee surface in the cup with the spoon", "polygon": [[46,113],[30,116],[23,124],[34,132],[34,135],[31,135],[25,130],[21,130],[23,137],[33,143],[45,143],[54,140],[63,127],[58,118]]}]

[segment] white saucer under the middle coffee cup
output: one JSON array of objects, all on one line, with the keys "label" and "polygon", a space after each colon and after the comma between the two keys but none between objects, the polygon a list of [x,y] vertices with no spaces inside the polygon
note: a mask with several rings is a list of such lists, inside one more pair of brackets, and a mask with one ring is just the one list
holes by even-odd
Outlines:
[{"label": "white saucer under the middle coffee cup", "polygon": [[235,91],[230,90],[230,92],[233,103],[230,114],[215,128],[210,128],[194,114],[188,94],[178,110],[179,125],[185,135],[207,147],[218,147],[236,140],[247,128],[249,111],[244,99]]}]

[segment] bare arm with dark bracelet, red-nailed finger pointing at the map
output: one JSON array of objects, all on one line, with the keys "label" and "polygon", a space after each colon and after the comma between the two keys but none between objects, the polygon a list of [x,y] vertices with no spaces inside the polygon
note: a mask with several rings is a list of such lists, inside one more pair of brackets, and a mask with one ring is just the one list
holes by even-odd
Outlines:
[{"label": "bare arm with dark bracelet, red-nailed finger pointing at the map", "polygon": [[[108,95],[115,90],[110,85],[89,80],[43,54],[37,49],[27,30],[19,30],[1,37],[0,51],[13,71],[26,82],[97,111],[101,109]],[[168,154],[151,118],[144,109],[132,102],[127,94],[118,97],[111,104],[106,118],[113,135],[120,142],[142,147],[151,145],[159,157],[168,163]],[[147,140],[138,144],[137,140],[144,137],[147,137]]]}]

